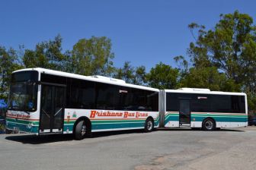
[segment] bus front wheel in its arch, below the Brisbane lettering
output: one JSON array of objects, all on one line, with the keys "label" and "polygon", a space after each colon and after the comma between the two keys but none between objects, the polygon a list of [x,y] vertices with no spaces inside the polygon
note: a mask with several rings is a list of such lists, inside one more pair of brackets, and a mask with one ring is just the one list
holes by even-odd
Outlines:
[{"label": "bus front wheel in its arch, below the Brisbane lettering", "polygon": [[75,140],[82,140],[91,135],[91,121],[89,118],[82,116],[75,121],[73,126]]}]

